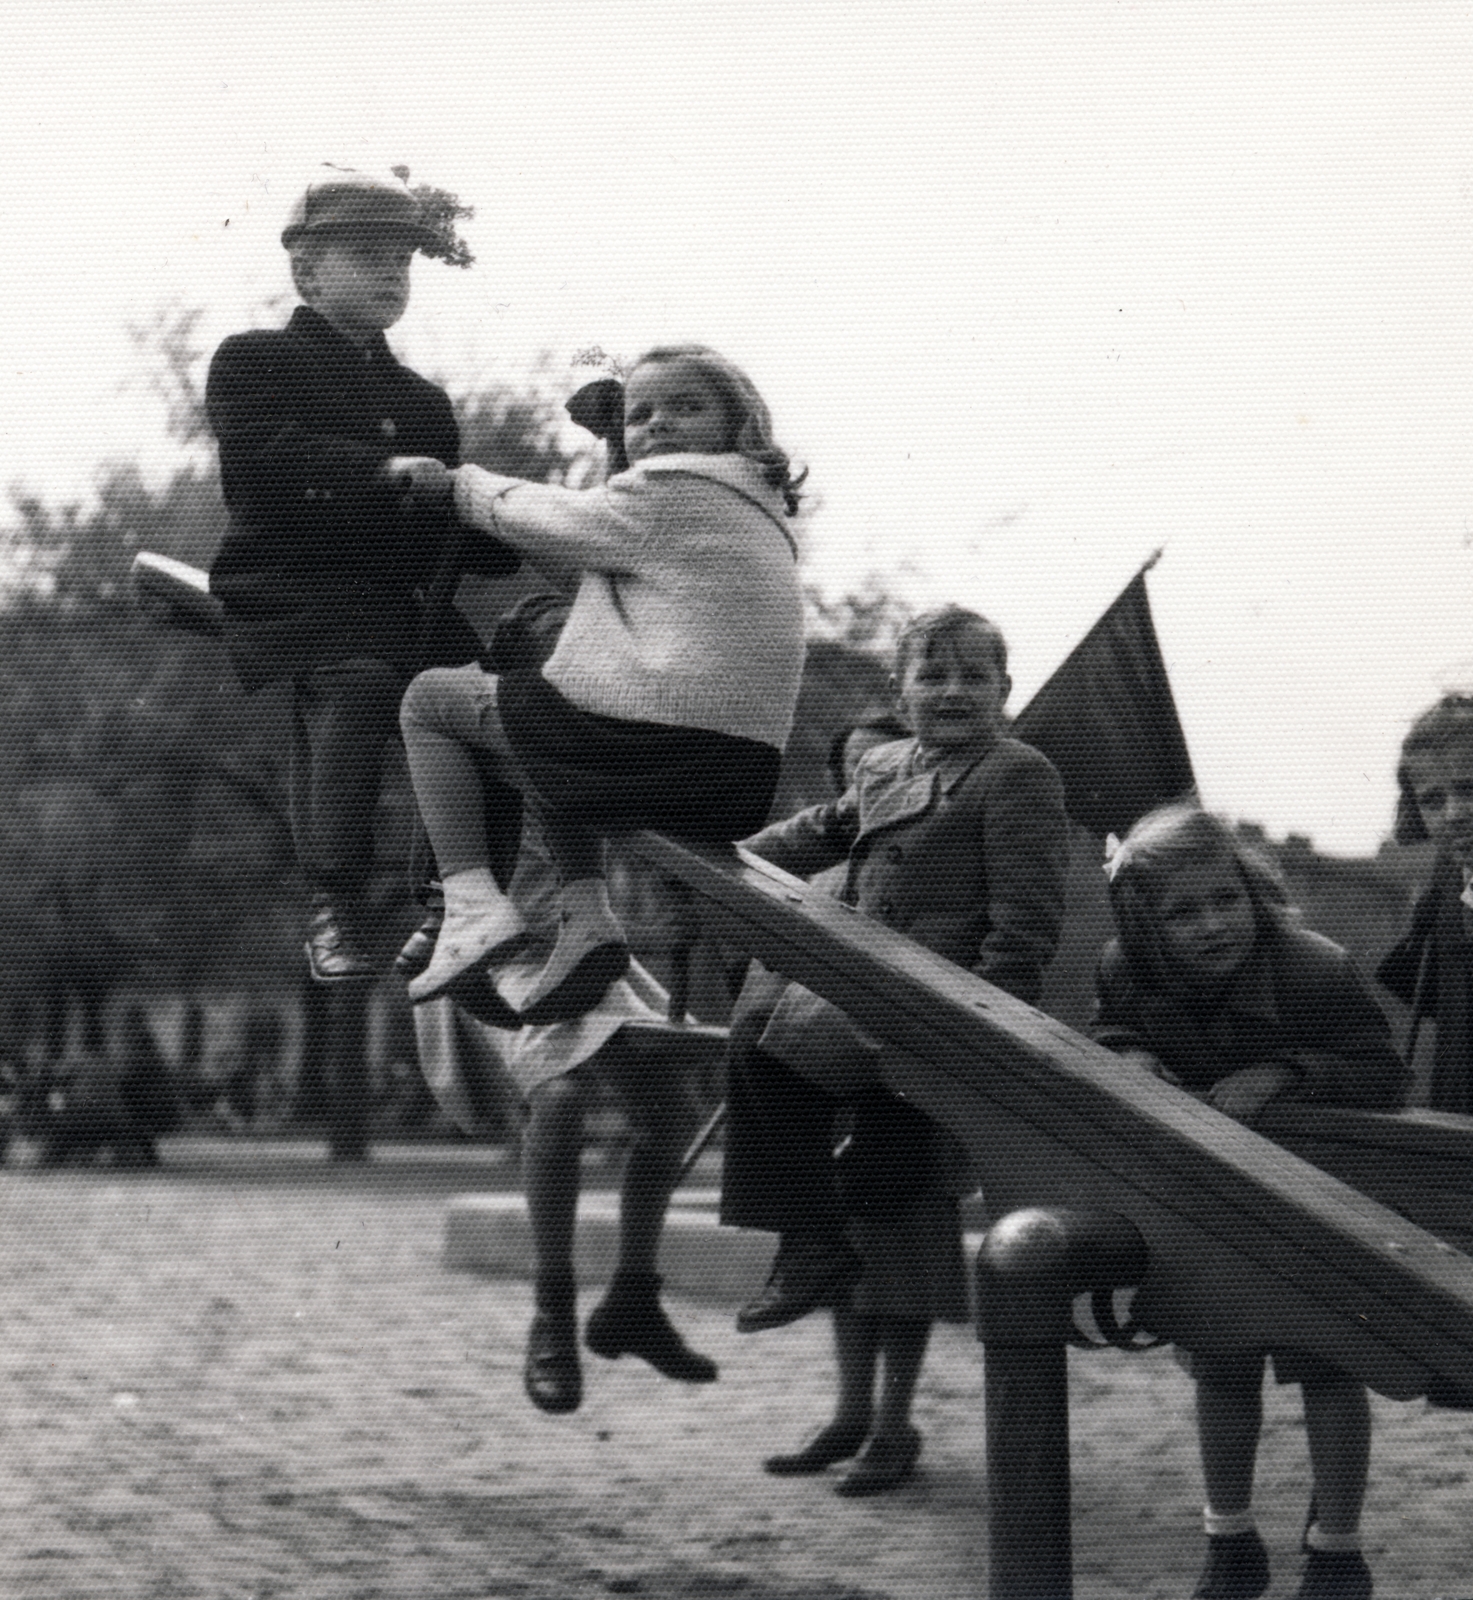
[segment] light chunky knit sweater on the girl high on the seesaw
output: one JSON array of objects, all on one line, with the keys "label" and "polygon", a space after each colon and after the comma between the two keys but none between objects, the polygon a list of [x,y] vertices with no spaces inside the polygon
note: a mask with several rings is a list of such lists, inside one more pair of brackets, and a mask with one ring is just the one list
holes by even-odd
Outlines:
[{"label": "light chunky knit sweater on the girl high on the seesaw", "polygon": [[803,598],[782,496],[755,462],[656,456],[593,490],[462,467],[456,510],[534,565],[579,570],[542,667],[574,706],[784,747]]}]

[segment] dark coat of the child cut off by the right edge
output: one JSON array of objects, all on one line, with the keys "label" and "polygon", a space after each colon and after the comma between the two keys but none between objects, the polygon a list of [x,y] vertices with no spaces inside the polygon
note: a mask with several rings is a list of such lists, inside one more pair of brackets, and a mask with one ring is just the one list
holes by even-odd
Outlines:
[{"label": "dark coat of the child cut off by the right edge", "polygon": [[[1438,1024],[1431,1069],[1433,1110],[1473,1115],[1473,934],[1463,915],[1463,875],[1455,861],[1441,858],[1431,885],[1417,901],[1407,936],[1390,950],[1375,976],[1419,1018]],[[1425,973],[1422,955],[1428,950]],[[1422,973],[1422,992],[1417,976]]]}]

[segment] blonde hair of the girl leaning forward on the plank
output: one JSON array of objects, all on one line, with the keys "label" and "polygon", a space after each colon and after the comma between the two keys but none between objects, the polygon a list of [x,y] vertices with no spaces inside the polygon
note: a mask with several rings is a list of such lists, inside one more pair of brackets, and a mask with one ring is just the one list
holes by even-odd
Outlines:
[{"label": "blonde hair of the girl leaning forward on the plank", "polygon": [[1230,859],[1243,878],[1260,934],[1294,920],[1278,867],[1247,845],[1220,816],[1195,805],[1164,805],[1148,811],[1115,846],[1105,862],[1110,910],[1120,946],[1131,965],[1148,979],[1168,974],[1156,923],[1172,874],[1209,861]]}]

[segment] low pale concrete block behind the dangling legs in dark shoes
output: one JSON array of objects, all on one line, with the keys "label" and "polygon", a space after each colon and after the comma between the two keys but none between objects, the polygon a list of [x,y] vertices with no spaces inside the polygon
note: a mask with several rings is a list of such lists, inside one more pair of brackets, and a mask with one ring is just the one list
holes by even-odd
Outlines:
[{"label": "low pale concrete block behind the dangling legs in dark shoes", "polygon": [[[677,1294],[739,1306],[766,1282],[776,1238],[721,1227],[715,1195],[681,1190],[665,1218],[661,1274]],[[574,1262],[579,1283],[606,1283],[619,1253],[619,1197],[579,1198]],[[504,1277],[531,1277],[533,1240],[517,1194],[454,1195],[445,1218],[445,1264]]]}]

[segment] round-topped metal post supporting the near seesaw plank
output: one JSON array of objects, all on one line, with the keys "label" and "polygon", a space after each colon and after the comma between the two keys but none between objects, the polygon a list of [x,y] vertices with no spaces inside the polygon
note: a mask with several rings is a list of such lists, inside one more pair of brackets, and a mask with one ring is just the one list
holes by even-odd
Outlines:
[{"label": "round-topped metal post supporting the near seesaw plank", "polygon": [[1072,1600],[1068,1366],[1086,1290],[1140,1283],[1147,1248],[1108,1211],[1012,1211],[977,1251],[987,1366],[990,1600]]}]

